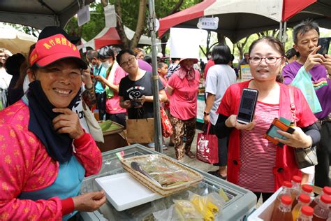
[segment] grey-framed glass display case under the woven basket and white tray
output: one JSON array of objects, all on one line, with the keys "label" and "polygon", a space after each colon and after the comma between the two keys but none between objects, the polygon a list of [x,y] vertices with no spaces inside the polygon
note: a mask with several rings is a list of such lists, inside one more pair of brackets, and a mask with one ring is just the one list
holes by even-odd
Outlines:
[{"label": "grey-framed glass display case under the woven basket and white tray", "polygon": [[[82,183],[81,192],[97,191],[98,186],[96,185],[96,178],[125,172],[122,168],[122,163],[116,156],[116,153],[121,151],[124,152],[125,158],[149,154],[161,155],[161,153],[145,148],[139,144],[128,145],[124,148],[103,152],[103,166],[100,173],[85,178]],[[234,185],[233,183],[229,183],[226,180],[222,180],[221,178],[217,178],[216,176],[212,176],[204,171],[195,169],[187,164],[184,165],[198,171],[204,176],[204,179],[198,183],[198,185],[190,187],[189,190],[156,199],[140,206],[128,208],[125,211],[117,211],[112,204],[107,201],[101,208],[93,213],[80,213],[80,218],[82,218],[82,220],[154,220],[153,213],[169,208],[173,204],[172,199],[187,199],[189,197],[189,191],[205,196],[210,192],[219,192],[220,188],[223,189],[229,201],[223,206],[221,215],[216,217],[217,220],[244,220],[255,208],[256,195],[253,194],[253,192]]]}]

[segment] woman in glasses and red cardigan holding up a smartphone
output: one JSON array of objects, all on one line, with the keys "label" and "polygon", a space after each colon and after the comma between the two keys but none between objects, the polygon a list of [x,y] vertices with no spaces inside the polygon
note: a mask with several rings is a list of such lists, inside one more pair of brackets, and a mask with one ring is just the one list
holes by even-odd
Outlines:
[{"label": "woman in glasses and red cardigan holding up a smartphone", "polygon": [[[281,65],[285,62],[283,44],[270,36],[253,41],[249,47],[249,66],[252,80],[230,85],[221,99],[215,125],[219,138],[230,135],[228,143],[228,181],[251,190],[263,201],[267,200],[284,181],[301,176],[294,157],[294,148],[316,145],[321,135],[316,117],[311,112],[302,92],[293,88],[297,127],[289,134],[277,132],[287,139],[279,147],[263,138],[275,117],[293,122],[290,110],[289,87],[277,82]],[[249,124],[237,122],[242,90],[258,90],[254,120]]]}]

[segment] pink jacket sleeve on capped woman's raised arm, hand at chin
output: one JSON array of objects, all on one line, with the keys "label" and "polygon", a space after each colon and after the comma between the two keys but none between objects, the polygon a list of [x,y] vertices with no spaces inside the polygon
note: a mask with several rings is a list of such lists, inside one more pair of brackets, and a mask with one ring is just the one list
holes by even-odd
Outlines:
[{"label": "pink jacket sleeve on capped woman's raised arm, hand at chin", "polygon": [[85,176],[97,174],[101,170],[102,155],[91,134],[84,133],[73,141],[75,156],[85,169]]}]

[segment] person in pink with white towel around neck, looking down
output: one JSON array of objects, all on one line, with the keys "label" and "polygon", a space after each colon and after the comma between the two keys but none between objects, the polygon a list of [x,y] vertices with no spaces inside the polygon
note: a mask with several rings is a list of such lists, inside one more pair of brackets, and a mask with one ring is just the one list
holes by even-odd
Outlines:
[{"label": "person in pink with white towel around neck, looking down", "polygon": [[116,62],[114,52],[110,46],[101,48],[98,52],[98,57],[103,67],[107,69],[105,78],[103,76],[95,76],[96,80],[105,87],[105,119],[112,120],[126,127],[126,109],[119,106],[119,82],[127,74]]}]

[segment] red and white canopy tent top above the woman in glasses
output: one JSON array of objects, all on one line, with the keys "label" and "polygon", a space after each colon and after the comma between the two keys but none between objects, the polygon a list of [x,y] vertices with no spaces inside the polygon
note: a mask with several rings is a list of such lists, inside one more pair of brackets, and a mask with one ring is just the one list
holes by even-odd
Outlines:
[{"label": "red and white canopy tent top above the woman in glasses", "polygon": [[249,34],[279,28],[279,23],[294,26],[312,18],[321,27],[331,28],[331,3],[328,0],[205,0],[191,8],[163,17],[159,37],[170,27],[197,28],[199,17],[219,17],[216,31],[237,42]]}]

